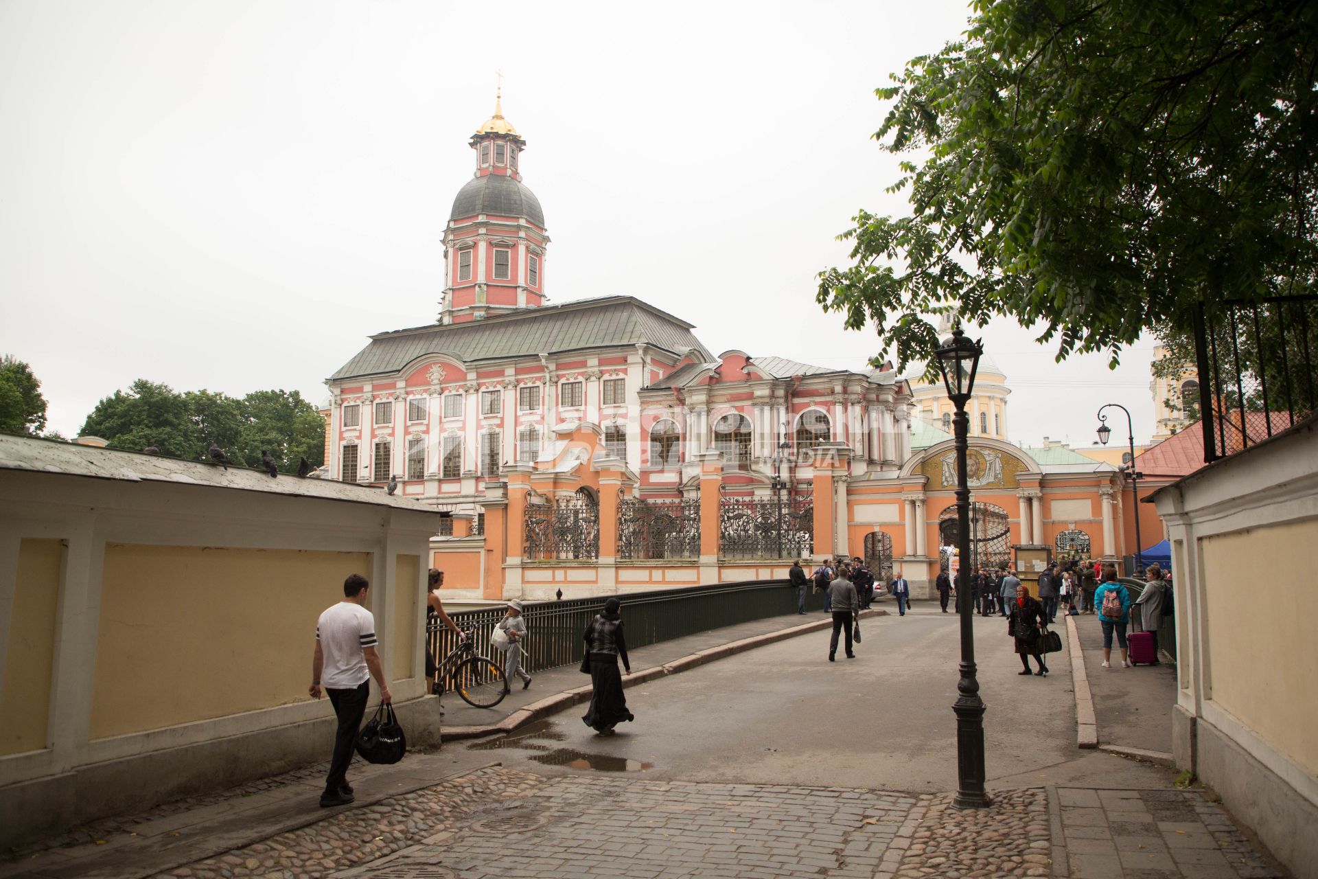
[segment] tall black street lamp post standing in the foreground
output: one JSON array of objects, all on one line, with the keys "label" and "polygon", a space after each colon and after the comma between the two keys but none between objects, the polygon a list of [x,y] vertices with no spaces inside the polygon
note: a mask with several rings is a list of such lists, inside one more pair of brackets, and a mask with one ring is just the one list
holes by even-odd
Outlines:
[{"label": "tall black street lamp post standing in the foreground", "polygon": [[992,804],[985,792],[985,704],[979,698],[975,677],[975,631],[970,601],[970,486],[966,476],[966,451],[970,445],[970,416],[966,403],[975,383],[975,370],[983,345],[966,339],[961,329],[953,329],[937,351],[938,369],[948,397],[957,407],[953,435],[957,443],[957,594],[961,615],[961,680],[957,683],[957,701],[952,710],[957,714],[957,796],[952,804],[958,809],[982,809]]}]

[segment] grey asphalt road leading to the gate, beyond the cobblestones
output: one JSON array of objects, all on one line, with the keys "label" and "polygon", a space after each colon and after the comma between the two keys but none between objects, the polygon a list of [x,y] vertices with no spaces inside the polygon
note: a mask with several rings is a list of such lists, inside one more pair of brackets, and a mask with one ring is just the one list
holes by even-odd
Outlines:
[{"label": "grey asphalt road leading to the gate, beyond the cobblestones", "polygon": [[[1049,676],[1024,677],[1006,631],[1000,617],[975,617],[990,787],[1169,783],[1157,767],[1079,751],[1066,651],[1048,658]],[[828,633],[815,633],[631,688],[637,721],[610,738],[581,723],[577,706],[484,752],[543,772],[954,789],[956,615],[936,605],[892,613],[865,621],[862,637],[851,660],[840,648],[829,663]]]}]

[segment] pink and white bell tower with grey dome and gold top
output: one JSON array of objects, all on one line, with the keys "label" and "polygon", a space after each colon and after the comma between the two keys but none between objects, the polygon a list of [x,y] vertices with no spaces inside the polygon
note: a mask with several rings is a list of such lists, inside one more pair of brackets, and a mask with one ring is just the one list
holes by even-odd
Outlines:
[{"label": "pink and white bell tower with grey dome and gold top", "polygon": [[544,233],[540,202],[522,183],[526,140],[503,117],[502,86],[494,115],[471,137],[476,171],[457,192],[444,229],[440,323],[480,320],[544,304]]}]

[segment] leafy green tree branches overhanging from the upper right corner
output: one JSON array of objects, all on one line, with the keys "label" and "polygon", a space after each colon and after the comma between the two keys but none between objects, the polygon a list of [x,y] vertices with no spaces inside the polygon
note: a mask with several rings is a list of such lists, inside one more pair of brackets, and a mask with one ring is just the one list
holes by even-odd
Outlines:
[{"label": "leafy green tree branches overhanging from the upper right corner", "polygon": [[[1313,289],[1318,4],[977,0],[908,62],[875,138],[916,153],[861,211],[817,299],[928,356],[921,318],[1040,324],[1058,360],[1184,326],[1223,298]],[[923,157],[923,161],[921,161]]]}]

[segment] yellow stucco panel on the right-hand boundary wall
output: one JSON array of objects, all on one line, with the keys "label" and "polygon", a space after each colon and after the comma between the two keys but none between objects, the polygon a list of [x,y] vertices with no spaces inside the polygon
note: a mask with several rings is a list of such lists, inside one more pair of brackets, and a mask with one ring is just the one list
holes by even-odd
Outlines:
[{"label": "yellow stucco panel on the right-hand boundary wall", "polygon": [[1211,697],[1318,774],[1318,608],[1304,547],[1318,519],[1205,538]]}]

